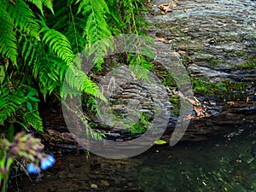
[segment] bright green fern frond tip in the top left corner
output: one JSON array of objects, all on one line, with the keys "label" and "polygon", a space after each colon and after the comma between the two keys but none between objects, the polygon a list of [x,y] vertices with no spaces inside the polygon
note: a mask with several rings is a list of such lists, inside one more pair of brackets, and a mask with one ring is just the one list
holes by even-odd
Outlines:
[{"label": "bright green fern frond tip in the top left corner", "polygon": [[18,67],[16,32],[29,34],[40,40],[39,25],[29,6],[20,0],[15,1],[15,4],[9,3],[9,1],[1,1],[0,16],[3,18],[0,23],[0,52]]}]

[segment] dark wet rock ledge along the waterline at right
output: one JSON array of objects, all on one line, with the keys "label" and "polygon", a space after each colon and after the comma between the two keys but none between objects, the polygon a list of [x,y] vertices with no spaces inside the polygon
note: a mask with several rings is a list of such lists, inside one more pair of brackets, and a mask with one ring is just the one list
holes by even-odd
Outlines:
[{"label": "dark wet rock ledge along the waterline at right", "polygon": [[[232,106],[221,103],[208,106],[210,117],[190,120],[189,127],[183,135],[182,141],[202,141],[210,137],[237,137],[243,131],[256,127],[255,102],[234,102]],[[172,131],[176,128],[177,121],[172,117],[172,122],[166,128],[163,140],[170,140]],[[178,128],[178,127],[177,127]]]}]

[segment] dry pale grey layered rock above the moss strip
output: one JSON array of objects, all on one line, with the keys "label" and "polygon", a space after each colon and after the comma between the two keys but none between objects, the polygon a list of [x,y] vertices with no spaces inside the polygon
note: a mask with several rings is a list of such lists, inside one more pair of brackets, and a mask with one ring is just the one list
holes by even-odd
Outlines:
[{"label": "dry pale grey layered rock above the moss strip", "polygon": [[[161,12],[161,3],[171,3],[173,11]],[[247,82],[252,88],[255,11],[252,0],[155,0],[148,6],[146,32],[160,44],[161,52],[178,55],[192,77],[205,77],[213,83],[227,79]],[[254,62],[252,69],[249,62]]]}]

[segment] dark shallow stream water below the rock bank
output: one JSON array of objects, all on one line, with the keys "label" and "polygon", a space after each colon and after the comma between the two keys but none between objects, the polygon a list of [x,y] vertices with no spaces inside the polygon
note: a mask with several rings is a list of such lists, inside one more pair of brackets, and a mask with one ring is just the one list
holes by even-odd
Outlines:
[{"label": "dark shallow stream water below the rock bank", "polygon": [[55,154],[41,177],[15,177],[12,191],[256,191],[256,128],[203,143],[154,146],[125,160]]}]

